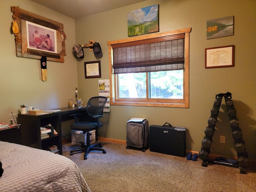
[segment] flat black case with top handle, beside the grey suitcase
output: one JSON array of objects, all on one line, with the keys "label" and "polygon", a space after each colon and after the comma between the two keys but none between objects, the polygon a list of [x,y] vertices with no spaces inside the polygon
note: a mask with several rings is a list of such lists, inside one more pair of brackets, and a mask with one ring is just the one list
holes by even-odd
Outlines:
[{"label": "flat black case with top handle, beside the grey suitcase", "polygon": [[150,125],[149,133],[150,151],[185,157],[186,128],[173,127],[166,122],[163,126]]}]

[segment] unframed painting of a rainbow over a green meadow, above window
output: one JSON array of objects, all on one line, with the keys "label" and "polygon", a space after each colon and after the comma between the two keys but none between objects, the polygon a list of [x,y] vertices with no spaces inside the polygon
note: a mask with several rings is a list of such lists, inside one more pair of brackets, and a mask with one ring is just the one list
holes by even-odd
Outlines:
[{"label": "unframed painting of a rainbow over a green meadow, above window", "polygon": [[159,5],[130,11],[127,19],[128,37],[159,32]]}]

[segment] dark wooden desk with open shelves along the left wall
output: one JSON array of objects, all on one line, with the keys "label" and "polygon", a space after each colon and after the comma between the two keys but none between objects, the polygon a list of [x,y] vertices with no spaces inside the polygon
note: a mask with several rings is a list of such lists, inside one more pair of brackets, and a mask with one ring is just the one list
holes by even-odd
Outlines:
[{"label": "dark wooden desk with open shelves along the left wall", "polygon": [[[58,108],[60,112],[31,115],[18,114],[18,123],[22,126],[22,144],[33,148],[47,149],[51,145],[58,146],[59,154],[62,154],[62,130],[61,122],[73,119],[71,114],[86,114],[86,107]],[[41,139],[40,127],[51,124],[57,135]]]}]

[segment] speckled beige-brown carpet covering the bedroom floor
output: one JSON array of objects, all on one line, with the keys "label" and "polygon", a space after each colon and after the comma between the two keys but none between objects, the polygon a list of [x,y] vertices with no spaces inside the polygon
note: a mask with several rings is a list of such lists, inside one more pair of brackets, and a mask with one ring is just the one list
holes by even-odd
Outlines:
[{"label": "speckled beige-brown carpet covering the bedroom floor", "polygon": [[156,152],[126,149],[125,145],[102,143],[107,151],[70,156],[79,146],[63,145],[63,155],[80,168],[92,192],[255,192],[255,169],[209,164]]}]

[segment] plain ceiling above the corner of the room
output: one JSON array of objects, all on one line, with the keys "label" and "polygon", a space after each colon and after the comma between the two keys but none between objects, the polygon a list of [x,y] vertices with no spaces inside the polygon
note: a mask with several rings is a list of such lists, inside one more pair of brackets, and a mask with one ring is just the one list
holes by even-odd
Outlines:
[{"label": "plain ceiling above the corner of the room", "polygon": [[42,6],[77,19],[146,0],[31,0]]}]

